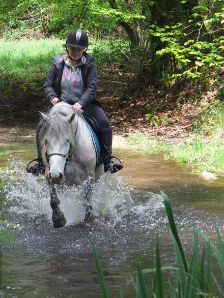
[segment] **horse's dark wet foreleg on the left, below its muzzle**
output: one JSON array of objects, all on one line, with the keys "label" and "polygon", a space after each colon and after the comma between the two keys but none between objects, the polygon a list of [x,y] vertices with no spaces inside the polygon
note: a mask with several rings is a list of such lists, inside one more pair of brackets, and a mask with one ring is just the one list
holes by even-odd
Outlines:
[{"label": "horse's dark wet foreleg on the left, below its muzzle", "polygon": [[55,228],[62,228],[64,225],[66,225],[66,218],[64,216],[64,213],[61,211],[59,205],[60,200],[57,196],[55,185],[50,182],[49,176],[47,175],[47,182],[50,187],[50,206],[52,208],[52,221],[53,226]]}]

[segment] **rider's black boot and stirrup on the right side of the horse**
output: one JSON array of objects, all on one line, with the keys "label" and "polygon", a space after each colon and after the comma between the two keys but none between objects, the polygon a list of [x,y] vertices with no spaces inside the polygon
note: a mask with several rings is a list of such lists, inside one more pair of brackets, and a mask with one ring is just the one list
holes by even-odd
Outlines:
[{"label": "rider's black boot and stirrup on the right side of the horse", "polygon": [[[112,156],[112,130],[109,129],[101,129],[100,130],[100,137],[101,137],[101,147],[102,147],[102,158],[104,164],[104,172],[110,171],[111,174],[116,173],[117,171],[121,170],[124,166],[121,161]],[[115,163],[111,159],[117,159],[119,163]]]}]

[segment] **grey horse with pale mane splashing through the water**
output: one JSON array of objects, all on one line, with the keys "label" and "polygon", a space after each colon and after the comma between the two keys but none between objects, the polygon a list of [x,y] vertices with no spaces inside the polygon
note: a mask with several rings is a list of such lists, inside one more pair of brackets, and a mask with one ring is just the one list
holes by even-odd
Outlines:
[{"label": "grey horse with pale mane splashing through the water", "polygon": [[91,215],[91,196],[94,182],[103,173],[103,166],[96,166],[97,156],[91,132],[81,116],[71,105],[60,102],[49,114],[40,112],[43,126],[39,133],[39,145],[43,162],[48,164],[47,181],[50,186],[50,205],[53,226],[63,227],[66,218],[60,209],[55,184],[85,185],[86,216]]}]

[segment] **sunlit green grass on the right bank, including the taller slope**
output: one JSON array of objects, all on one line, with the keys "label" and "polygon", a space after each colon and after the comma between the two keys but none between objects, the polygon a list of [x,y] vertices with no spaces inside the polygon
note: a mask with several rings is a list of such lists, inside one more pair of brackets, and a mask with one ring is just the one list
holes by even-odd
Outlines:
[{"label": "sunlit green grass on the right bank, including the taller slope", "polygon": [[184,142],[172,144],[141,133],[128,142],[141,154],[162,154],[165,160],[187,164],[191,172],[224,173],[224,107],[208,107]]}]

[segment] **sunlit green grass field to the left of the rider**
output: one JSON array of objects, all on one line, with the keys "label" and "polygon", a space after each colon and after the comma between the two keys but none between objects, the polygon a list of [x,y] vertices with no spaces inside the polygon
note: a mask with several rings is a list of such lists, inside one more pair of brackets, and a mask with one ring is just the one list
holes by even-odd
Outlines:
[{"label": "sunlit green grass field to the left of the rider", "polygon": [[51,57],[62,52],[59,40],[0,40],[0,90],[7,94],[15,91],[40,91]]}]

